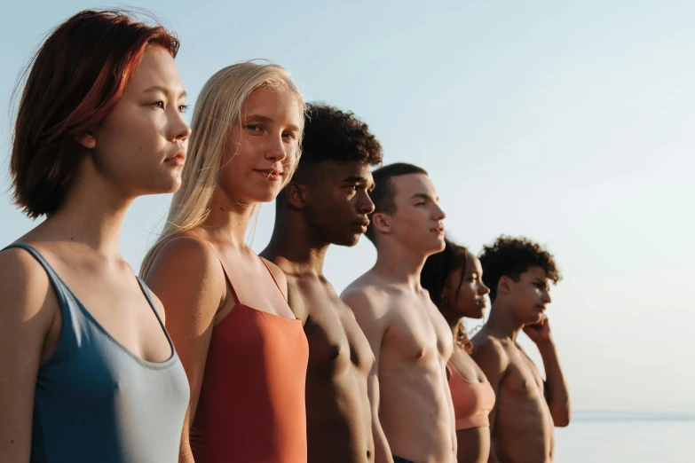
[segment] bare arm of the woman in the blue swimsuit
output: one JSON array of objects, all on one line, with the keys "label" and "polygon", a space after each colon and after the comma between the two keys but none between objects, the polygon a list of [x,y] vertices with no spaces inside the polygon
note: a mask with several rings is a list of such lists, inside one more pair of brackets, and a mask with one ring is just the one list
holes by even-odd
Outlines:
[{"label": "bare arm of the woman in the blue swimsuit", "polygon": [[0,254],[0,455],[28,463],[36,376],[58,300],[39,263],[20,249]]}]

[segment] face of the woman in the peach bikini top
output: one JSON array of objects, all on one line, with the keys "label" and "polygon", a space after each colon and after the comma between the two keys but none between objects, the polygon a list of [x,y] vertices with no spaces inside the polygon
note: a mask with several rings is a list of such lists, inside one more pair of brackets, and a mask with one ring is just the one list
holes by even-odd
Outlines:
[{"label": "face of the woman in the peach bikini top", "polygon": [[483,318],[486,310],[486,294],[490,288],[483,283],[483,268],[478,257],[466,253],[466,268],[456,269],[446,285],[449,307],[459,317]]}]

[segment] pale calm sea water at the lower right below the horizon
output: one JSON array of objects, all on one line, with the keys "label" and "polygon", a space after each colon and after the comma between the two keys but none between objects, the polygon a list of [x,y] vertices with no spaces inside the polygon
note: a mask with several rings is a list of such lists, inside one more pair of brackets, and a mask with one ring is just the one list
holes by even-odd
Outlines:
[{"label": "pale calm sea water at the lower right below the horizon", "polygon": [[575,412],[555,463],[695,463],[695,413]]}]

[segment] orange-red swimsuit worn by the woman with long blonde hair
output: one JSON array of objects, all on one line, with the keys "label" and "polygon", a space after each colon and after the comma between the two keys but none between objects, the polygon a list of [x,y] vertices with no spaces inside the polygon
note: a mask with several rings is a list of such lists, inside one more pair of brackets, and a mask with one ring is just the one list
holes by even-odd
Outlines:
[{"label": "orange-red swimsuit worn by the woman with long blonde hair", "polygon": [[212,331],[190,433],[195,463],[306,463],[302,322],[242,304],[225,277],[236,305]]}]

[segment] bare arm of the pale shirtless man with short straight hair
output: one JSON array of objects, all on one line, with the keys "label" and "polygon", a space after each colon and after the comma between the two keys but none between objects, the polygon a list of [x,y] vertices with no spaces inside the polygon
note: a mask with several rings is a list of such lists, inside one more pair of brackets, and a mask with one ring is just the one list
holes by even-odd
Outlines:
[{"label": "bare arm of the pale shirtless man with short straight hair", "polygon": [[375,307],[367,296],[359,291],[341,294],[343,301],[350,306],[357,323],[369,341],[375,361],[367,378],[367,394],[372,411],[372,435],[374,437],[375,463],[393,463],[391,448],[379,421],[379,357],[385,332],[384,317],[375,317]]}]

